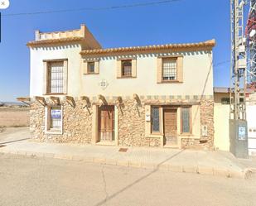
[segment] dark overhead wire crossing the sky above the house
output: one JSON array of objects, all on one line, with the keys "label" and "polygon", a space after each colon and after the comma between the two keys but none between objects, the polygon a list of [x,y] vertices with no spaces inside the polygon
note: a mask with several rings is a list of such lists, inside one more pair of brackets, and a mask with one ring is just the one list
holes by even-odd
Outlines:
[{"label": "dark overhead wire crossing the sky above the house", "polygon": [[120,5],[120,6],[110,6],[110,7],[84,7],[84,8],[73,8],[73,9],[41,11],[41,12],[9,13],[9,14],[2,14],[2,17],[27,16],[27,15],[38,15],[38,14],[47,14],[47,13],[62,13],[62,12],[113,10],[113,9],[130,8],[130,7],[148,7],[148,6],[153,6],[153,5],[167,4],[167,3],[171,3],[171,2],[180,2],[180,1],[182,1],[182,0],[164,0],[164,1],[157,1],[157,2],[138,2],[138,3],[133,3],[133,4]]}]

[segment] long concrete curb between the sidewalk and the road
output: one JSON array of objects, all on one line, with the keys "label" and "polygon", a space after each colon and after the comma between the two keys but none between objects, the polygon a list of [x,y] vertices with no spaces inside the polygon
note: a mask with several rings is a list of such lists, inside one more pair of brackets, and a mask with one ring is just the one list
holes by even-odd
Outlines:
[{"label": "long concrete curb between the sidewalk and the road", "polygon": [[198,175],[214,175],[226,178],[239,178],[248,179],[250,175],[256,171],[256,169],[246,168],[241,171],[227,170],[224,168],[207,167],[204,165],[172,165],[172,164],[156,164],[150,162],[139,162],[131,160],[116,160],[106,159],[104,157],[92,157],[92,156],[74,156],[68,154],[56,154],[56,153],[42,153],[32,151],[0,151],[1,154],[12,154],[19,156],[32,156],[32,157],[43,157],[43,158],[54,158],[60,160],[78,160],[85,161],[88,163],[97,163],[101,165],[118,165],[133,168],[142,168],[149,170],[166,170],[171,172],[179,173],[194,173]]}]

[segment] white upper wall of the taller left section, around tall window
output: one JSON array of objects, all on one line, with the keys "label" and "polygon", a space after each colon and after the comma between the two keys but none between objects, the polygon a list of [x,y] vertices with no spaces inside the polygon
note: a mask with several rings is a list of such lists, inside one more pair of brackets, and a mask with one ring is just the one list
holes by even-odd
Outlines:
[{"label": "white upper wall of the taller left section, around tall window", "polygon": [[67,93],[79,96],[81,88],[79,44],[31,48],[30,95],[43,95],[43,60],[68,59]]}]

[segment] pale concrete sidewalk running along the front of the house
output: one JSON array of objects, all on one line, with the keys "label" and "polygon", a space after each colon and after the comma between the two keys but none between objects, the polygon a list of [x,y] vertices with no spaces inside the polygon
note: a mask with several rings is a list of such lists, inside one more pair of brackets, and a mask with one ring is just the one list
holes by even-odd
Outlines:
[{"label": "pale concrete sidewalk running along the front of the house", "polygon": [[[29,139],[27,128],[3,132],[0,134],[0,145],[2,153],[25,156],[84,160],[108,165],[234,178],[247,178],[251,173],[248,165],[244,165],[229,152],[41,143]],[[120,148],[128,150],[122,152],[119,151]]]}]

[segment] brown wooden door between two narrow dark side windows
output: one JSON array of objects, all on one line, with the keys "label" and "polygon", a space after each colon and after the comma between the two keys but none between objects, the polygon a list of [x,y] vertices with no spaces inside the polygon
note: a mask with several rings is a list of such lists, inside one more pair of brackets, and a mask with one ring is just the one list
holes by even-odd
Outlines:
[{"label": "brown wooden door between two narrow dark side windows", "polygon": [[177,145],[177,110],[176,108],[166,108],[163,110],[163,130],[166,146]]}]

